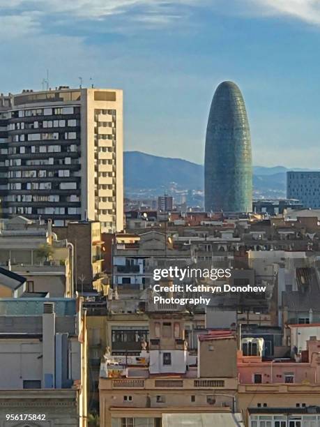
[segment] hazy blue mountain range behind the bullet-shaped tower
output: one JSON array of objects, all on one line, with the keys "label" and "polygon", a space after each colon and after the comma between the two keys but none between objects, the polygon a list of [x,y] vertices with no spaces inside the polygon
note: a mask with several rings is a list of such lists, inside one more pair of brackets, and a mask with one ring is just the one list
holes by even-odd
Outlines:
[{"label": "hazy blue mountain range behind the bullet-shaped tower", "polygon": [[[204,190],[204,165],[181,158],[153,156],[141,151],[125,151],[123,157],[125,195],[160,195],[165,191]],[[286,197],[284,166],[253,167],[254,197]]]}]

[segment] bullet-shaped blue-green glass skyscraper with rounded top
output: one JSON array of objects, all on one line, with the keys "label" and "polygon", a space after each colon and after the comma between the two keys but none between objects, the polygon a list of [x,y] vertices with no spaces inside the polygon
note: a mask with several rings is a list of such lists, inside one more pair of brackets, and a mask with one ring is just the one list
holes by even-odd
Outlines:
[{"label": "bullet-shaped blue-green glass skyscraper with rounded top", "polygon": [[219,84],[206,129],[204,159],[206,211],[252,211],[250,128],[240,89]]}]

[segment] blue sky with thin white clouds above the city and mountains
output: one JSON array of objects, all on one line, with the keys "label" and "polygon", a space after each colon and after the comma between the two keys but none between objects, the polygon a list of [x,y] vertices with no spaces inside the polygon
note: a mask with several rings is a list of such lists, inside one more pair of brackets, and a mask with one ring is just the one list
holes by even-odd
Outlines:
[{"label": "blue sky with thin white clouds above the city and mountains", "polygon": [[125,150],[204,161],[223,80],[254,165],[320,163],[320,0],[0,0],[0,91],[123,89]]}]

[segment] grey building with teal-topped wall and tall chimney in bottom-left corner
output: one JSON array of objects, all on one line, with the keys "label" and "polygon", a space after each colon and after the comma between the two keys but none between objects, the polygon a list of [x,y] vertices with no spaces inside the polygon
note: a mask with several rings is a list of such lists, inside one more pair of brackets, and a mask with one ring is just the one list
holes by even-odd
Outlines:
[{"label": "grey building with teal-topped wall and tall chimney in bottom-left corner", "polygon": [[68,426],[87,426],[82,301],[0,299],[0,341],[1,419],[45,414],[37,426],[66,426],[67,419]]}]

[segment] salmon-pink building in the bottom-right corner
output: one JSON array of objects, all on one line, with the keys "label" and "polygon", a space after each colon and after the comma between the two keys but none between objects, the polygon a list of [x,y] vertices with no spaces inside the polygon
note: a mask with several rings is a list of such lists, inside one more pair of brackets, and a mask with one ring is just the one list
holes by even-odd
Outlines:
[{"label": "salmon-pink building in the bottom-right corner", "polygon": [[320,341],[314,338],[291,359],[238,354],[238,408],[247,427],[319,426]]}]

